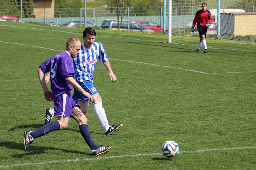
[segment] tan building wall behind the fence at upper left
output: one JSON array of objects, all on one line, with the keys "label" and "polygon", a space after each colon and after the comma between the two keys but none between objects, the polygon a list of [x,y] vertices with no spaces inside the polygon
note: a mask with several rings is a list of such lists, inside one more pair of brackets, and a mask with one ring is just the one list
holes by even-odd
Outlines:
[{"label": "tan building wall behind the fence at upper left", "polygon": [[44,18],[44,8],[46,18],[54,17],[54,0],[33,0],[36,18]]}]

